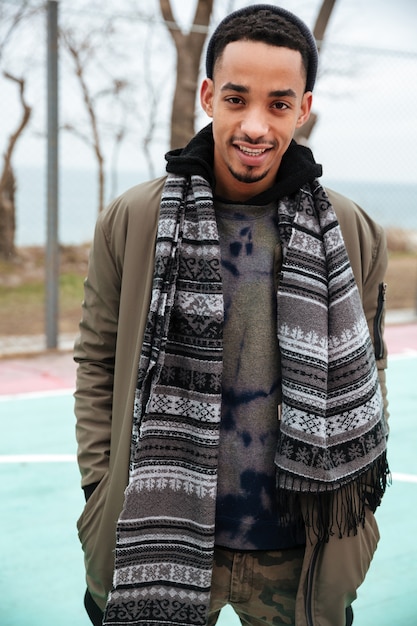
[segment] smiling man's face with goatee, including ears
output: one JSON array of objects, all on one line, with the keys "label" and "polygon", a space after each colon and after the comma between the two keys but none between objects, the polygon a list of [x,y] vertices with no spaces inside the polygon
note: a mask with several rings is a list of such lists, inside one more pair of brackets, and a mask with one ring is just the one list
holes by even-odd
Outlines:
[{"label": "smiling man's face with goatee, including ears", "polygon": [[297,50],[235,41],[201,86],[213,119],[216,193],[245,201],[274,183],[294,131],[308,119],[312,94]]}]

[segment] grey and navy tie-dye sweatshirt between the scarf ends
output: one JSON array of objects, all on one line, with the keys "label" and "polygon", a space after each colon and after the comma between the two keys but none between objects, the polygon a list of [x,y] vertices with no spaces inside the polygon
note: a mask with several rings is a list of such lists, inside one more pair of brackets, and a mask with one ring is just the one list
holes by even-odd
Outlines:
[{"label": "grey and navy tie-dye sweatshirt between the scarf ends", "polygon": [[243,206],[217,200],[215,210],[225,302],[216,543],[238,550],[280,549],[303,537],[280,527],[276,504],[281,392],[276,202]]}]

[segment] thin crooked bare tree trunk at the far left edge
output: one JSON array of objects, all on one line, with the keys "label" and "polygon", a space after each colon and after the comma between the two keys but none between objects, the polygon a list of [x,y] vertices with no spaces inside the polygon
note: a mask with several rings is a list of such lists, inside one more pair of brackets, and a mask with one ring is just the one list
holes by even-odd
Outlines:
[{"label": "thin crooked bare tree trunk at the far left edge", "polygon": [[12,167],[12,156],[18,139],[27,126],[32,112],[25,99],[25,81],[8,72],[4,77],[15,82],[19,87],[19,98],[22,106],[22,117],[16,130],[10,135],[7,147],[3,155],[3,169],[0,175],[0,256],[4,259],[13,258],[15,249],[16,230],[16,207],[15,190],[16,182]]}]

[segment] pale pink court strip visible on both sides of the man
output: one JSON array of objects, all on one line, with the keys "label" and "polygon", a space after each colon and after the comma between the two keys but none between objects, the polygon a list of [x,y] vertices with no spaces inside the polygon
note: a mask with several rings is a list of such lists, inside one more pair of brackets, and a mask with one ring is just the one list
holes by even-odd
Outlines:
[{"label": "pale pink court strip visible on both sides of the man", "polygon": [[[417,353],[417,323],[388,325],[385,339],[391,356]],[[0,358],[0,395],[72,389],[75,371],[69,351]]]}]

